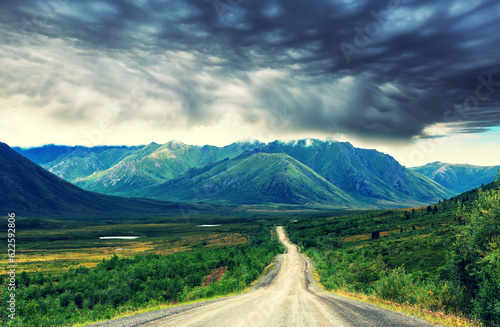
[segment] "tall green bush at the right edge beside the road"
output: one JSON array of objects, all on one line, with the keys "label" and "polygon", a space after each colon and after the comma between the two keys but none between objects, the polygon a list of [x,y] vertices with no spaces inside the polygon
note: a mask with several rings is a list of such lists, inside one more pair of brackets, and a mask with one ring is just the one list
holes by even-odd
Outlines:
[{"label": "tall green bush at the right edge beside the road", "polygon": [[500,190],[479,189],[473,205],[461,204],[458,215],[464,224],[458,227],[449,267],[464,290],[459,309],[500,326]]}]

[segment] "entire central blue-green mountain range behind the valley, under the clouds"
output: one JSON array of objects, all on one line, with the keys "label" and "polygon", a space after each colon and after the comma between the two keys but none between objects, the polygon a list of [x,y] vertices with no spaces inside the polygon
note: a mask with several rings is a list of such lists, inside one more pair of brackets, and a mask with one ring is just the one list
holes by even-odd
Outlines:
[{"label": "entire central blue-green mountain range behind the valley, under the clouds", "polygon": [[164,201],[353,208],[420,205],[455,194],[389,155],[333,139],[15,150],[83,189]]}]

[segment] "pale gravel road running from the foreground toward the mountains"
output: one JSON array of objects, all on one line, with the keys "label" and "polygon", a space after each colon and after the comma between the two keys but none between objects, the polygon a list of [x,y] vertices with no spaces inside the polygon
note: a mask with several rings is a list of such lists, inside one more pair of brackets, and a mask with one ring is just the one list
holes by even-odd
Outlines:
[{"label": "pale gravel road running from the foreground toward the mountains", "polygon": [[286,248],[278,257],[279,269],[251,292],[93,326],[431,326],[420,319],[321,291],[313,283],[310,263],[282,227],[277,232]]}]

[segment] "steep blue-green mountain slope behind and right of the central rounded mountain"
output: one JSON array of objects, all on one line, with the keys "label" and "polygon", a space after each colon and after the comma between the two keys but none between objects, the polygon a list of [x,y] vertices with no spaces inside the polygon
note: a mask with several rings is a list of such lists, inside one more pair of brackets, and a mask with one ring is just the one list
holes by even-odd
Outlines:
[{"label": "steep blue-green mountain slope behind and right of the central rounded mountain", "polygon": [[454,195],[429,178],[401,166],[389,155],[355,148],[347,142],[275,141],[260,150],[286,153],[366,203],[418,205]]}]

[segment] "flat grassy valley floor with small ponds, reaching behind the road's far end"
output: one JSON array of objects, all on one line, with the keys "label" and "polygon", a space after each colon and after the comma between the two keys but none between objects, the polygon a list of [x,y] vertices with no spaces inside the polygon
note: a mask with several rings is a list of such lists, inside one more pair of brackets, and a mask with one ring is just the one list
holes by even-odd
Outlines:
[{"label": "flat grassy valley floor with small ponds, reaching behind the road's far end", "polygon": [[[319,210],[318,210],[319,209]],[[207,212],[204,212],[204,211]],[[248,233],[261,224],[288,223],[301,217],[346,215],[352,210],[306,208],[290,205],[204,208],[186,216],[82,217],[78,220],[16,218],[16,261],[19,271],[60,275],[78,266],[95,267],[114,254],[171,254],[201,247],[220,247],[248,241]],[[220,225],[198,227],[198,225]],[[101,240],[102,236],[139,236],[133,240]],[[0,243],[6,244],[7,217],[0,217]],[[2,248],[4,248],[2,246]],[[6,247],[0,265],[7,265]]]}]

